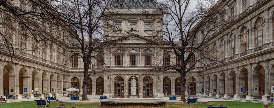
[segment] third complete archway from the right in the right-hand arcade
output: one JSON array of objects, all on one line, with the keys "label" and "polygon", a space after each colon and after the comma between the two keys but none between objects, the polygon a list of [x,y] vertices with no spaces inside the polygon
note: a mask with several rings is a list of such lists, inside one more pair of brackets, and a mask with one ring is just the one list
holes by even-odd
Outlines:
[{"label": "third complete archway from the right in the right-hand arcade", "polygon": [[236,74],[234,71],[229,72],[228,75],[228,95],[233,96],[236,94]]}]

